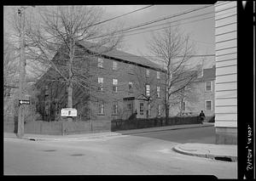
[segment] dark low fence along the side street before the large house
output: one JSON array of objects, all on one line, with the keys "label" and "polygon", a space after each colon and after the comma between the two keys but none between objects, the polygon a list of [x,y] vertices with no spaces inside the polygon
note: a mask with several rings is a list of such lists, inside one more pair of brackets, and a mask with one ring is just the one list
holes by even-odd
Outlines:
[{"label": "dark low fence along the side street before the large house", "polygon": [[111,122],[111,131],[139,129],[146,127],[164,127],[182,124],[199,124],[198,116],[173,116],[169,117],[167,122],[165,117],[156,117],[150,119],[132,119],[132,120],[113,120]]}]

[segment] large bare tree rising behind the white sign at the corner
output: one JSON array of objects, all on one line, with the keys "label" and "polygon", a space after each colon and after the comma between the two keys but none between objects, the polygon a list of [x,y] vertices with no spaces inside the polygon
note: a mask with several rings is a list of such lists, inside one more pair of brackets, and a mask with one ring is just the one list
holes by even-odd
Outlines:
[{"label": "large bare tree rising behind the white sign at the corner", "polygon": [[[47,71],[45,81],[67,86],[69,108],[74,105],[74,86],[87,94],[93,87],[90,66],[84,62],[111,51],[121,41],[121,36],[113,37],[116,26],[99,23],[102,15],[102,8],[96,6],[61,6],[38,7],[37,16],[26,16],[26,59],[31,62],[31,71],[38,76]],[[19,32],[19,22],[14,22]],[[110,36],[87,42],[106,32]]]}]

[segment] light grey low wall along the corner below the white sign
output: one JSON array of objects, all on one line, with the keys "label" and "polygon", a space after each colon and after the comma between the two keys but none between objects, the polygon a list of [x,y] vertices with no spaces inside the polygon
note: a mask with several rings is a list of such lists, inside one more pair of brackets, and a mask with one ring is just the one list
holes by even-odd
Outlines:
[{"label": "light grey low wall along the corner below the white sign", "polygon": [[[4,122],[3,130],[7,133],[17,133],[17,122]],[[92,127],[91,127],[92,126]],[[96,133],[96,132],[109,132],[111,122],[108,120],[90,122],[26,122],[24,125],[24,133],[34,134],[49,134],[49,135],[62,135],[62,134],[76,134],[76,133]],[[92,129],[91,129],[92,128]]]}]

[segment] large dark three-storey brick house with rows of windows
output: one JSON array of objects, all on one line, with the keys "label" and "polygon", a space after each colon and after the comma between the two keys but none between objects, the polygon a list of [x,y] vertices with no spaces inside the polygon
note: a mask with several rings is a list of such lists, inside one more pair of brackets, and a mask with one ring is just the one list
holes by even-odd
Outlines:
[{"label": "large dark three-storey brick house with rows of windows", "polygon": [[[78,49],[86,49],[87,42],[76,45]],[[164,71],[159,65],[117,49],[84,59],[83,64],[87,65],[84,71],[90,75],[91,83],[85,92],[73,87],[73,108],[78,110],[76,120],[91,118],[99,123],[110,122],[128,119],[136,112],[138,118],[165,116]],[[67,107],[67,86],[47,82],[49,72],[55,74],[49,69],[36,84],[41,91],[37,110],[44,120],[54,121],[61,109]]]}]

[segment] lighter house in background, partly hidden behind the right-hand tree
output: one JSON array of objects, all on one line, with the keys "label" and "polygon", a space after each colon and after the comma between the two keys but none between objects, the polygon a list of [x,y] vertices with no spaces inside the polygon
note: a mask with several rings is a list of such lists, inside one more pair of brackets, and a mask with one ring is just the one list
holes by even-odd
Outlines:
[{"label": "lighter house in background, partly hidden behind the right-hand tree", "polygon": [[215,65],[212,68],[199,71],[197,78],[191,84],[191,92],[177,106],[172,107],[170,115],[177,116],[182,113],[194,115],[204,111],[207,118],[215,113]]}]

